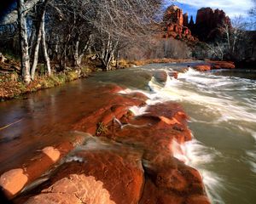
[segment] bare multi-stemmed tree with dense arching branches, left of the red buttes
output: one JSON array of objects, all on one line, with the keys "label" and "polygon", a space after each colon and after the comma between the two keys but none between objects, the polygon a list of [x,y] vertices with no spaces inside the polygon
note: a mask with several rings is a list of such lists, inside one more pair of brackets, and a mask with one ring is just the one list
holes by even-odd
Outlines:
[{"label": "bare multi-stemmed tree with dense arching branches, left of the red buttes", "polygon": [[104,70],[110,69],[114,53],[122,47],[120,42],[132,42],[136,37],[144,37],[152,31],[150,28],[160,3],[153,0],[100,0],[94,3],[93,10],[97,13],[93,20],[97,30],[94,47]]}]

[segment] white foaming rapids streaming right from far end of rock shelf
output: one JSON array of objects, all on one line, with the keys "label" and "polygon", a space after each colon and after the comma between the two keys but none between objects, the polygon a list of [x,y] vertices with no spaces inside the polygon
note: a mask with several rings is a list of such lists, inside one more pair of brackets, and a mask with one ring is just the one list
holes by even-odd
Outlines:
[{"label": "white foaming rapids streaming right from far end of rock shelf", "polygon": [[[255,106],[254,101],[245,106],[237,105],[236,99],[232,96],[219,94],[219,91],[215,90],[216,87],[223,87],[232,83],[231,81],[225,82],[228,80],[226,77],[215,77],[210,74],[207,74],[206,77],[206,74],[189,69],[188,72],[181,73],[178,78],[181,80],[175,80],[167,75],[166,85],[163,87],[155,82],[153,77],[148,83],[154,92],[151,98],[158,99],[159,102],[174,100],[206,106],[207,109],[217,111],[221,115],[218,122],[241,119],[246,122],[256,121],[256,111],[248,110],[248,107],[253,108],[253,105]],[[212,88],[212,84],[215,84],[215,88]],[[209,91],[209,86],[211,86],[211,91]],[[199,94],[195,93],[195,90],[201,87],[204,89],[201,89]]]}]

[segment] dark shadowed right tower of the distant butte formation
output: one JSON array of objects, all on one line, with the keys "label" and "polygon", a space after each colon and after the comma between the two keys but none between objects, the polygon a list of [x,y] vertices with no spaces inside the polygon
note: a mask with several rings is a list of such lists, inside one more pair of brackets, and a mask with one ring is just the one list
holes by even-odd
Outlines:
[{"label": "dark shadowed right tower of the distant butte formation", "polygon": [[223,10],[201,8],[197,11],[195,25],[189,24],[189,29],[199,40],[208,42],[222,36],[225,26],[231,27],[231,23]]}]

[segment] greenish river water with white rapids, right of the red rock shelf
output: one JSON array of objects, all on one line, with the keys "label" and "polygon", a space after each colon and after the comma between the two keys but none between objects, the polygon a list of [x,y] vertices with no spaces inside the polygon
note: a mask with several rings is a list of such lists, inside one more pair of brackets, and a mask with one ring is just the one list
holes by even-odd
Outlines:
[{"label": "greenish river water with white rapids, right of the red rock shelf", "polygon": [[[177,80],[168,76],[166,83],[154,77],[155,71],[170,73],[187,65],[147,65],[116,71],[107,77],[100,74],[96,78],[123,84],[130,88],[126,92],[139,86],[150,98],[148,105],[166,100],[183,105],[194,135],[183,146],[186,162],[201,172],[212,203],[253,204],[256,201],[256,72],[189,69],[180,73]],[[145,83],[148,78],[145,72],[153,75],[148,83]],[[144,110],[134,111],[142,114]]]}]

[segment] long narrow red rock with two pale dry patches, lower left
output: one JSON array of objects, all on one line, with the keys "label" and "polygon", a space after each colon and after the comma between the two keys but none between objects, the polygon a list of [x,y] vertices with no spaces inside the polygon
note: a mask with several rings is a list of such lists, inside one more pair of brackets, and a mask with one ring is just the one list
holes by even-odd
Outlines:
[{"label": "long narrow red rock with two pale dry patches, lower left", "polygon": [[9,198],[13,198],[27,184],[32,184],[43,173],[47,172],[75,146],[84,142],[84,137],[74,136],[70,141],[63,141],[56,147],[45,147],[19,169],[13,169],[1,175],[0,185]]}]

